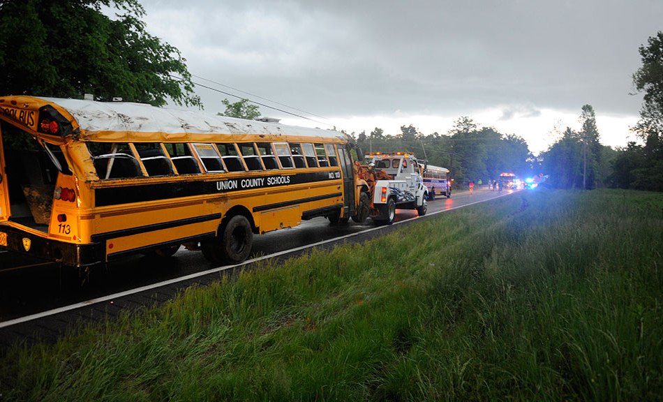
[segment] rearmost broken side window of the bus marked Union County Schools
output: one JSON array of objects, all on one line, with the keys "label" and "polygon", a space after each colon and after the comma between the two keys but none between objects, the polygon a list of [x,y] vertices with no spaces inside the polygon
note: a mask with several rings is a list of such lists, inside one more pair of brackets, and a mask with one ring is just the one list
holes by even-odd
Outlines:
[{"label": "rearmost broken side window of the bus marked Union County Schools", "polygon": [[128,144],[88,142],[87,149],[92,156],[92,163],[99,179],[121,179],[143,175]]}]

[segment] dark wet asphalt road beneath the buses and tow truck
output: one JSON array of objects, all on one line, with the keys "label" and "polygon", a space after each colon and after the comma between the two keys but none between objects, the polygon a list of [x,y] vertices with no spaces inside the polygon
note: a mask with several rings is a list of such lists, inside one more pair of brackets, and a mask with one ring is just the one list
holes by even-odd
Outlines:
[{"label": "dark wet asphalt road beneath the buses and tow truck", "polygon": [[[512,192],[489,191],[487,188],[475,188],[472,195],[468,191],[457,192],[452,195],[452,198],[438,198],[429,202],[426,216],[509,195]],[[415,210],[396,210],[396,222],[417,218],[419,216]],[[424,216],[424,218],[426,217]],[[351,220],[348,225],[332,226],[325,218],[314,218],[311,221],[304,221],[296,228],[255,236],[253,253],[250,258],[301,248],[350,234],[359,234],[374,228],[375,225],[371,219],[361,225]],[[352,237],[348,241],[352,241]],[[118,292],[131,291],[154,283],[175,280],[216,267],[208,262],[202,253],[180,248],[173,258],[166,261],[155,262],[149,258],[135,256],[115,262],[106,269],[93,271],[89,276],[80,276],[75,269],[64,269],[50,264],[32,265],[15,270],[8,269],[14,265],[26,263],[29,262],[18,258],[17,255],[0,253],[0,267],[4,268],[3,271],[0,271],[0,325],[2,322],[26,315],[50,311],[53,308],[81,303]],[[82,281],[85,281],[84,286],[80,285]]]}]

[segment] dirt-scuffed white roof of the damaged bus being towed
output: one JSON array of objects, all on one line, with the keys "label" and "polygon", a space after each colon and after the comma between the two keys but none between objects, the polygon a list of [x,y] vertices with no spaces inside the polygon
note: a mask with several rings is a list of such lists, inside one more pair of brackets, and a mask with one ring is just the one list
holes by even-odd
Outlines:
[{"label": "dirt-scuffed white roof of the damaged bus being towed", "polygon": [[[97,102],[66,98],[3,96],[3,107],[11,101],[25,109],[36,110],[51,105],[75,119],[82,139],[96,139],[117,133],[163,133],[165,137],[181,134],[255,134],[276,136],[325,137],[346,140],[338,131],[287,126],[264,121],[234,119],[194,110],[177,110],[144,103]],[[63,114],[66,117],[66,114]]]}]

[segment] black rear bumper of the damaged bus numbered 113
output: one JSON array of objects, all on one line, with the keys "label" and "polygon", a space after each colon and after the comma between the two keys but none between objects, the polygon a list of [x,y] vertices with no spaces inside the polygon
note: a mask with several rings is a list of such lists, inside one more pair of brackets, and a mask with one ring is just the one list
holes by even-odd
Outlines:
[{"label": "black rear bumper of the damaged bus numbered 113", "polygon": [[0,244],[0,249],[58,262],[70,267],[88,267],[103,261],[103,246],[98,243],[73,244],[46,239],[10,226],[0,226],[0,236],[1,233],[4,233],[2,237],[6,244]]}]

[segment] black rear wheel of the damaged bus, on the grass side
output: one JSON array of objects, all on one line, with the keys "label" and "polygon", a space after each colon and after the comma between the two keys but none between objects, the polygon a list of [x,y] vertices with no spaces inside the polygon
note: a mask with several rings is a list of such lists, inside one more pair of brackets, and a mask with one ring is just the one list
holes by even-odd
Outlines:
[{"label": "black rear wheel of the damaged bus, on the grass side", "polygon": [[202,255],[214,263],[239,264],[248,258],[252,244],[251,223],[244,215],[235,215],[223,225],[214,240],[202,245]]}]

